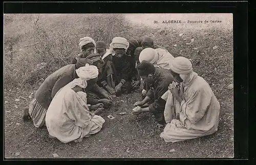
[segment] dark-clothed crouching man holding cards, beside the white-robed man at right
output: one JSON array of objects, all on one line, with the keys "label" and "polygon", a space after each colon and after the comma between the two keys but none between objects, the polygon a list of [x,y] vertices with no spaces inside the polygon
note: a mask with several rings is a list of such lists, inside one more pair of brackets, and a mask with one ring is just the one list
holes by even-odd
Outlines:
[{"label": "dark-clothed crouching man holding cards, beside the white-robed man at right", "polygon": [[163,68],[155,68],[153,64],[142,61],[137,66],[137,70],[141,78],[150,85],[150,90],[147,92],[146,97],[142,101],[135,102],[134,106],[143,106],[144,104],[154,100],[148,107],[137,108],[133,114],[139,115],[143,112],[151,112],[154,114],[158,122],[158,126],[163,126],[164,121],[164,107],[166,101],[161,96],[168,90],[168,86],[174,81],[172,74]]}]

